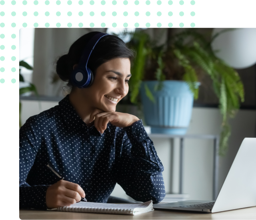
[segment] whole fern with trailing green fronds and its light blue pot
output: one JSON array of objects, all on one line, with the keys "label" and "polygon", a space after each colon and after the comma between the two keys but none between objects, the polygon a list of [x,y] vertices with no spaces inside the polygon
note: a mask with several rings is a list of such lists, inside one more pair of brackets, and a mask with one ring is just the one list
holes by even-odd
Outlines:
[{"label": "whole fern with trailing green fronds and its light blue pot", "polygon": [[[168,28],[168,41],[160,46],[143,31],[135,32],[127,43],[136,51],[129,82],[130,103],[138,105],[139,109],[142,103],[146,124],[158,126],[156,131],[163,132],[168,127],[174,131],[173,125],[178,125],[174,119],[178,117],[180,124],[186,126],[176,127],[184,134],[190,122],[193,100],[198,99],[198,75],[209,74],[223,115],[219,154],[224,155],[231,133],[228,118],[235,117],[240,108],[239,99],[244,101],[244,87],[238,73],[211,49],[211,42],[221,32],[208,42],[196,31],[187,30],[172,36],[170,30]],[[231,30],[234,29],[225,31]],[[192,40],[185,43],[188,38]]]}]

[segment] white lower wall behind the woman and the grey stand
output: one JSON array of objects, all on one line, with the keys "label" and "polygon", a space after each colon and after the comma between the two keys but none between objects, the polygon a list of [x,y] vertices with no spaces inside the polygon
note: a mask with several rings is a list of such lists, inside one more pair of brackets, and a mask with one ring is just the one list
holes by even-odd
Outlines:
[{"label": "white lower wall behind the woman and the grey stand", "polygon": [[[32,115],[58,105],[57,101],[22,100],[22,123]],[[216,108],[194,107],[188,134],[217,135],[220,133],[221,115]],[[232,135],[229,140],[229,151],[226,157],[220,158],[219,190],[228,174],[236,153],[245,137],[254,137],[256,110],[241,109],[234,119],[230,120]],[[150,136],[150,135],[149,135]],[[179,139],[174,139],[173,145],[173,178],[171,179],[171,141],[169,139],[152,138],[158,157],[164,165],[164,182],[166,192],[178,193],[178,163]],[[183,192],[189,194],[189,199],[212,200],[213,176],[213,141],[201,139],[184,140],[184,184]],[[119,185],[116,185],[113,196],[129,198]]]}]

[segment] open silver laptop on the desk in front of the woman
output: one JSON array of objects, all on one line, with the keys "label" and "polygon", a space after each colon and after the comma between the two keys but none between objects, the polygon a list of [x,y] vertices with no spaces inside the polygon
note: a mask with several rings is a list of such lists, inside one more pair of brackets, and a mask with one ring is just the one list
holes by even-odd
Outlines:
[{"label": "open silver laptop on the desk in front of the woman", "polygon": [[222,212],[256,206],[256,138],[245,138],[216,201],[185,200],[153,204],[155,209]]}]

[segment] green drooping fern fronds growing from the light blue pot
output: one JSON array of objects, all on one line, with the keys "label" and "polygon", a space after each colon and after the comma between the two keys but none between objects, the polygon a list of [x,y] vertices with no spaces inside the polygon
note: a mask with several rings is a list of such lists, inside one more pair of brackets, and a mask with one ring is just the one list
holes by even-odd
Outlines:
[{"label": "green drooping fern fronds growing from the light blue pot", "polygon": [[[164,51],[163,46],[156,47],[155,42],[150,42],[145,34],[135,34],[134,40],[137,42],[137,56],[135,60],[136,65],[131,70],[132,77],[130,79],[130,81],[132,80],[130,83],[132,85],[131,102],[136,103],[139,87],[144,77],[143,72],[146,59],[156,60],[158,64],[155,70],[155,77],[158,80],[158,84],[154,88],[155,91],[162,89],[162,82],[166,79],[163,71],[166,63],[162,59],[166,54],[174,57],[174,59],[178,59],[179,65],[183,67],[184,72],[180,74],[182,74],[182,79],[188,83],[194,99],[198,99],[198,75],[194,67],[200,67],[210,75],[214,92],[219,98],[220,113],[223,115],[219,146],[220,155],[225,155],[228,149],[228,138],[231,134],[228,118],[235,116],[240,108],[240,101],[244,101],[244,86],[238,73],[216,57],[210,47],[211,42],[219,34],[230,30],[235,29],[230,28],[217,33],[210,42],[202,34],[194,31],[184,31],[171,38],[172,41],[170,42],[172,42],[172,45],[168,47],[169,51]],[[184,40],[188,37],[193,38],[192,45],[184,44]],[[148,98],[154,102],[154,97],[146,84],[144,89]]]}]

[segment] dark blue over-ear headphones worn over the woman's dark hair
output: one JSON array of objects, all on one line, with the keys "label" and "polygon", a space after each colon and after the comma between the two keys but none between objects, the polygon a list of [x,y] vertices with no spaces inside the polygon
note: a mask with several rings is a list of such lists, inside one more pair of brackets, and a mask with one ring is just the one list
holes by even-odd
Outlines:
[{"label": "dark blue over-ear headphones worn over the woman's dark hair", "polygon": [[87,67],[87,63],[92,53],[92,50],[94,49],[94,47],[96,46],[100,38],[106,35],[109,35],[109,34],[106,34],[106,33],[95,34],[91,38],[89,43],[86,45],[84,52],[78,63],[78,66],[76,67],[76,69],[72,71],[70,76],[71,82],[76,87],[82,89],[82,88],[89,87],[92,84],[94,77],[93,77],[92,71],[89,69],[89,67]]}]

